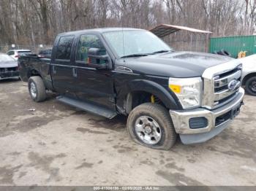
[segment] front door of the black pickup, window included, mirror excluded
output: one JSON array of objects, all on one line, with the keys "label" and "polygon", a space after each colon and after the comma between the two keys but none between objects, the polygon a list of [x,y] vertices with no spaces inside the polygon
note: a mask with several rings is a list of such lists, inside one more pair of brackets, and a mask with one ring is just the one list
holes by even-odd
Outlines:
[{"label": "front door of the black pickup, window included, mirror excluded", "polygon": [[[111,70],[95,69],[88,61],[89,48],[99,48],[101,55],[108,54],[99,36],[83,34],[80,36],[75,64],[78,66],[77,95],[82,100],[93,101],[108,109],[115,110],[113,78]],[[100,61],[101,64],[104,61]]]}]

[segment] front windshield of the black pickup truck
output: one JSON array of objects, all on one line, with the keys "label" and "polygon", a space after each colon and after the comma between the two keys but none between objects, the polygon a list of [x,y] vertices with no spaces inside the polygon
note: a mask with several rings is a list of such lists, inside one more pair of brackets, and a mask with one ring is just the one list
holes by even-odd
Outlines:
[{"label": "front windshield of the black pickup truck", "polygon": [[171,50],[165,42],[149,31],[113,31],[103,36],[119,57]]}]

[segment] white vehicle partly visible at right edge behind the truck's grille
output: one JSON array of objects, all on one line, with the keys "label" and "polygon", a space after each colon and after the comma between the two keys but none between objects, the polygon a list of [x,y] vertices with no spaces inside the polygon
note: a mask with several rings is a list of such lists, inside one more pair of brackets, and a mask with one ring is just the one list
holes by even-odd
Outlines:
[{"label": "white vehicle partly visible at right edge behind the truck's grille", "polygon": [[246,93],[256,96],[256,54],[239,60],[243,63],[242,85],[245,86]]}]

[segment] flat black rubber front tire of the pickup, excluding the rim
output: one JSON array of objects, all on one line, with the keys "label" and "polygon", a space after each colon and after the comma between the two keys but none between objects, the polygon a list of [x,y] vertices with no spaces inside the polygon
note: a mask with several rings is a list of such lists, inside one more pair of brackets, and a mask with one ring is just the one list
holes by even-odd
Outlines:
[{"label": "flat black rubber front tire of the pickup, excluding the rim", "polygon": [[[135,132],[135,122],[142,116],[148,116],[159,124],[162,136],[156,144],[146,144]],[[173,127],[170,114],[167,112],[167,109],[159,104],[146,103],[135,107],[129,114],[127,130],[133,141],[152,149],[169,150],[176,143],[177,134]]]}]

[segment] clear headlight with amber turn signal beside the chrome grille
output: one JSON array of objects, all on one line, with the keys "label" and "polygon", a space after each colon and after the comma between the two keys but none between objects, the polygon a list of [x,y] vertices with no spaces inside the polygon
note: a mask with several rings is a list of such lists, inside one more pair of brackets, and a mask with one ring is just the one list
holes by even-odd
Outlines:
[{"label": "clear headlight with amber turn signal beside the chrome grille", "polygon": [[169,78],[169,88],[178,97],[184,109],[200,106],[202,79],[192,78]]}]

